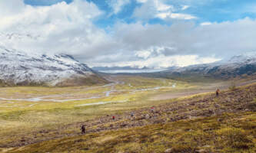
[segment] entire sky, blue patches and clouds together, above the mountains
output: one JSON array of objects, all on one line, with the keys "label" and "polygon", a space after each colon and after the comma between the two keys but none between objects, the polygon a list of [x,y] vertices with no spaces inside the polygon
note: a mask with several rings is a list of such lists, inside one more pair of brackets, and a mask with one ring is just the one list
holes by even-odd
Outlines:
[{"label": "entire sky, blue patches and clouds together, above the mountains", "polygon": [[90,67],[185,67],[256,52],[254,0],[0,0],[0,45]]}]

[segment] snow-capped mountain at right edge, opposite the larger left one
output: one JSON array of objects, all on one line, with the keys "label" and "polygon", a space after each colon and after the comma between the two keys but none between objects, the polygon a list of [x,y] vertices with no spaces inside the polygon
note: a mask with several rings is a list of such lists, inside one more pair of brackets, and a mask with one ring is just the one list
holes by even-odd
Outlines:
[{"label": "snow-capped mountain at right edge, opposite the larger left one", "polygon": [[180,67],[168,72],[176,75],[199,74],[219,78],[238,77],[244,74],[251,75],[256,73],[256,54],[238,55],[231,57],[230,60]]}]

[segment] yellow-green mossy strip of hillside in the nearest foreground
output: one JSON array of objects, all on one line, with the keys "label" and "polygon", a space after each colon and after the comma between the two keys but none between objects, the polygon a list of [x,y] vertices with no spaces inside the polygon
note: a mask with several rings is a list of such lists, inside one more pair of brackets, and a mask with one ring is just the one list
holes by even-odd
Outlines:
[{"label": "yellow-green mossy strip of hillside in the nearest foreground", "polygon": [[9,152],[255,152],[256,113],[223,114],[62,138]]}]

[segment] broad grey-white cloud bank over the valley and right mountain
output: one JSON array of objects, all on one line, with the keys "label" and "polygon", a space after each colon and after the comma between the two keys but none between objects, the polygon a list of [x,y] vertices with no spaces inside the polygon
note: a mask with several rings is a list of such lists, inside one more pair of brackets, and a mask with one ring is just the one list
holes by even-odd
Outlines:
[{"label": "broad grey-white cloud bank over the valley and right mountain", "polygon": [[209,26],[188,21],[171,26],[119,23],[113,28],[113,37],[120,45],[118,55],[115,54],[115,59],[110,59],[111,55],[102,56],[95,64],[184,67],[211,63],[244,51],[255,51],[255,27],[256,20],[250,18]]}]

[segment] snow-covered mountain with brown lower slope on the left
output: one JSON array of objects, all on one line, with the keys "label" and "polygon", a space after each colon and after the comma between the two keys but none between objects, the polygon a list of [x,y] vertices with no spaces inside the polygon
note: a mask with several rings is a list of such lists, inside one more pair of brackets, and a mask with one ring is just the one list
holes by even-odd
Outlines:
[{"label": "snow-covered mountain with brown lower slope on the left", "polygon": [[27,54],[0,47],[0,82],[8,85],[80,86],[107,81],[67,54]]}]

